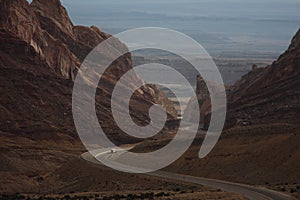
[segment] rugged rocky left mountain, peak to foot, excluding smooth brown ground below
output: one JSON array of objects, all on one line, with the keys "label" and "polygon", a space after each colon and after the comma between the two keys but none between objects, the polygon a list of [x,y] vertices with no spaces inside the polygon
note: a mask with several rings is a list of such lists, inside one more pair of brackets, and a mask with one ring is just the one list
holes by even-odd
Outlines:
[{"label": "rugged rocky left mountain, peak to foot, excluding smooth brown ground below", "polygon": [[[59,0],[34,0],[31,4],[26,0],[1,0],[0,16],[0,69],[5,71],[1,73],[1,83],[5,87],[13,82],[12,87],[1,90],[1,113],[6,113],[1,115],[0,126],[5,127],[1,130],[28,133],[26,127],[38,123],[47,132],[61,133],[69,129],[71,131],[67,132],[74,136],[76,131],[70,113],[72,80],[90,51],[111,35],[94,26],[74,26]],[[118,40],[113,46],[116,50],[127,48]],[[96,97],[101,112],[99,120],[116,142],[121,142],[125,136],[113,122],[110,96],[119,78],[131,69],[129,53],[117,59],[103,74]],[[136,74],[132,74],[129,81],[132,84],[142,82]],[[33,83],[43,85],[43,90],[34,89]],[[49,95],[55,98],[48,98]],[[176,117],[171,102],[166,101],[156,87],[144,86],[132,97],[132,117],[144,124],[149,121],[149,107],[163,103],[170,103],[166,105],[168,117]],[[7,108],[8,104],[19,106]],[[48,114],[43,114],[45,112]],[[6,121],[15,126],[8,126]],[[29,129],[38,131],[38,128]],[[134,141],[131,138],[127,142]]]}]

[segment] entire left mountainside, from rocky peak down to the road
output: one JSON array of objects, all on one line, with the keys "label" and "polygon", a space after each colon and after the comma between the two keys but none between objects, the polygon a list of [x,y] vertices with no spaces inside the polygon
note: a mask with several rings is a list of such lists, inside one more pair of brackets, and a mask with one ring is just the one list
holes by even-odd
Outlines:
[{"label": "entire left mountainside, from rocky peak down to the road", "polygon": [[[41,176],[85,151],[72,118],[73,80],[88,53],[109,37],[94,26],[74,26],[59,0],[0,0],[0,191],[37,192],[41,183],[49,185]],[[118,129],[110,112],[112,88],[130,69],[130,54],[117,59],[96,97],[100,123],[115,143],[137,141]],[[135,74],[131,80],[142,81]],[[149,121],[150,106],[169,103],[152,85],[131,102],[132,118],[141,124]],[[175,109],[166,107],[173,118]]]}]

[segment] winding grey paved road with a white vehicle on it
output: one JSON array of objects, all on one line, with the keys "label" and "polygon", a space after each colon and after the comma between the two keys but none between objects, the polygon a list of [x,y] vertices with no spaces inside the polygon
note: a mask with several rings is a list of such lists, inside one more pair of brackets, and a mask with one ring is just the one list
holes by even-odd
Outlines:
[{"label": "winding grey paved road with a white vehicle on it", "polygon": [[[103,150],[97,150],[97,151],[98,151],[97,156],[102,156],[102,160],[106,160],[107,162],[114,162],[114,161],[110,161],[111,156],[115,157],[116,155],[120,156],[122,154],[122,151],[117,152],[116,154],[111,154],[107,148]],[[82,154],[81,158],[93,164],[102,164],[97,159],[95,159],[89,152]],[[254,187],[250,185],[233,183],[228,181],[175,174],[175,173],[170,173],[165,171],[151,172],[151,173],[147,173],[147,175],[221,189],[223,191],[233,192],[233,193],[243,195],[249,200],[293,200],[294,199],[288,195],[273,190],[269,190],[263,187]]]}]

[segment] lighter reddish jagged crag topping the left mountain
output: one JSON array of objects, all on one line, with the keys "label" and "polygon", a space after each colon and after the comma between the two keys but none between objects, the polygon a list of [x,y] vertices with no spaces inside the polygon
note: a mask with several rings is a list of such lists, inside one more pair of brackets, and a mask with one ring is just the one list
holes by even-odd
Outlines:
[{"label": "lighter reddish jagged crag topping the left mountain", "polygon": [[16,34],[30,44],[49,67],[65,78],[74,78],[78,58],[69,48],[45,31],[27,1],[1,1],[1,29]]}]

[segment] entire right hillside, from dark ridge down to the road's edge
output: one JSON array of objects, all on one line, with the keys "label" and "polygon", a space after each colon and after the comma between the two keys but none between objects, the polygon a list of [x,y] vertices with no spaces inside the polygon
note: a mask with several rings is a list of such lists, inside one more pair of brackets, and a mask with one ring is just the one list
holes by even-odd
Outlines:
[{"label": "entire right hillside, from dark ridge down to the road's edge", "polygon": [[[197,90],[199,103],[203,98],[209,101],[199,78],[198,85],[202,88]],[[204,135],[199,134],[188,152],[168,169],[264,185],[289,194],[294,191],[293,195],[297,196],[295,191],[300,180],[299,85],[300,30],[278,60],[266,68],[254,66],[227,91],[226,129],[213,151],[204,159],[198,158]],[[209,124],[209,120],[205,122]]]}]

